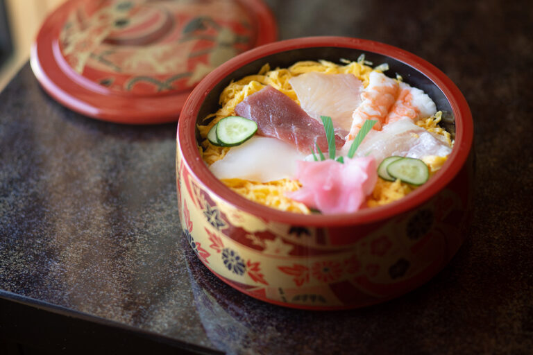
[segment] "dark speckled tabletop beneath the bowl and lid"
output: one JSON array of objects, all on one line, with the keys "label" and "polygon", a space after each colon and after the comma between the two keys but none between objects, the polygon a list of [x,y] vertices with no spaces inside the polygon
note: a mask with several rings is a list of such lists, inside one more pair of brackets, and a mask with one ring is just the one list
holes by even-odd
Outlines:
[{"label": "dark speckled tabletop beneath the bowl and lid", "polygon": [[532,354],[532,2],[266,2],[280,39],[386,42],[462,90],[477,184],[455,258],[416,291],[365,309],[253,300],[183,243],[176,123],[81,116],[44,93],[26,65],[0,94],[0,338],[52,353],[90,352],[100,341],[115,353],[133,338],[138,349],[203,353]]}]

